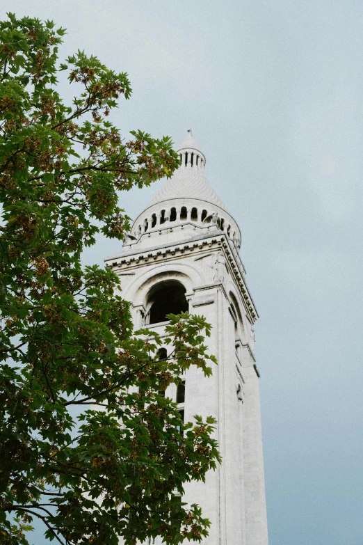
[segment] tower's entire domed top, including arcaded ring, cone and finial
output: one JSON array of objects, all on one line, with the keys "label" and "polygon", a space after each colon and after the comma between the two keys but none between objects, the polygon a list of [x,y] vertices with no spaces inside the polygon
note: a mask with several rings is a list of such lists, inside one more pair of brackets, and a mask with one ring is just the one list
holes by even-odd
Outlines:
[{"label": "tower's entire domed top, including arcaded ring, cone and finial", "polygon": [[158,244],[169,244],[219,230],[239,248],[239,226],[204,175],[205,155],[191,129],[176,151],[179,168],[135,219],[124,246],[151,247],[156,239]]}]

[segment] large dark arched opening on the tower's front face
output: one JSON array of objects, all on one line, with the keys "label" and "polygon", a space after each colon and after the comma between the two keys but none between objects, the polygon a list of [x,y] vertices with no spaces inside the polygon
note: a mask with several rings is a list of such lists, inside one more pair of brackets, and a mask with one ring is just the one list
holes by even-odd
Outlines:
[{"label": "large dark arched opening on the tower's front face", "polygon": [[188,312],[185,287],[177,281],[165,281],[156,284],[150,292],[150,324],[166,322],[168,314]]}]

